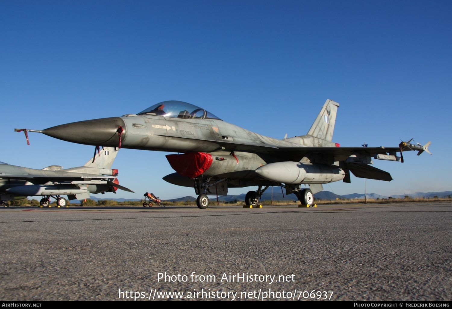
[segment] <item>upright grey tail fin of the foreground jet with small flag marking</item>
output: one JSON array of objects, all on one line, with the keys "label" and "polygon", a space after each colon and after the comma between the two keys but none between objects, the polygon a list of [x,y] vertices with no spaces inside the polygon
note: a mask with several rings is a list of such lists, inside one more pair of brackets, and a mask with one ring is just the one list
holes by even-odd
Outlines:
[{"label": "upright grey tail fin of the foreground jet with small flag marking", "polygon": [[339,103],[326,100],[307,135],[317,137],[321,140],[332,141],[338,107]]}]

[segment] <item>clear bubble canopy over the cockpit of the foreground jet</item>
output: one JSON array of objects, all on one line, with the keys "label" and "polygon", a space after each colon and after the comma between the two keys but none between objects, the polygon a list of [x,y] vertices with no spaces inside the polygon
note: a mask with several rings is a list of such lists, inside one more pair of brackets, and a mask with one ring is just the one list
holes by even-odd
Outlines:
[{"label": "clear bubble canopy over the cockpit of the foreground jet", "polygon": [[146,108],[138,115],[156,115],[163,117],[185,118],[185,119],[217,119],[221,120],[211,112],[196,105],[182,101],[164,101]]}]

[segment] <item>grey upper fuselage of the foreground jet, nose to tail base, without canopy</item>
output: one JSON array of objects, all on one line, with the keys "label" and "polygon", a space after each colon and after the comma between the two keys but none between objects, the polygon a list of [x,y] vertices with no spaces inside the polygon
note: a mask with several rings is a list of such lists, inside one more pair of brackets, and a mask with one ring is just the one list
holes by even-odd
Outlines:
[{"label": "grey upper fuselage of the foreground jet, nose to tail base, without canopy", "polygon": [[[118,129],[122,129],[121,135]],[[169,152],[270,151],[277,147],[334,147],[313,136],[278,140],[215,119],[178,119],[153,115],[127,115],[72,122],[42,133],[74,143]],[[121,142],[120,142],[121,140]]]}]

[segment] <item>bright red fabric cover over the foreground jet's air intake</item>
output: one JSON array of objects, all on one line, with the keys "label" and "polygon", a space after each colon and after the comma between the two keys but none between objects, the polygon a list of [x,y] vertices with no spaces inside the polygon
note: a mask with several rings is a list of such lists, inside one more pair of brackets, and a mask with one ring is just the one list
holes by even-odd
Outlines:
[{"label": "bright red fabric cover over the foreground jet's air intake", "polygon": [[198,177],[212,164],[212,155],[205,152],[188,152],[182,155],[166,155],[171,167],[182,176]]}]

